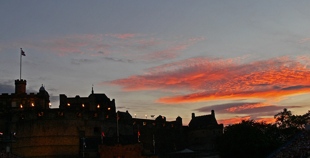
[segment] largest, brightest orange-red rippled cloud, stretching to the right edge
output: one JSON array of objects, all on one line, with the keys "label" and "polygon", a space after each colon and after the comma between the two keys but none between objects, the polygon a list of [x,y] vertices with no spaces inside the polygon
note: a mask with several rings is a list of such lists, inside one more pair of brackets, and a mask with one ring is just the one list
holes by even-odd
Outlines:
[{"label": "largest, brightest orange-red rippled cloud, stretching to the right edge", "polygon": [[[193,58],[144,70],[143,75],[117,79],[110,84],[125,91],[169,90],[159,103],[208,100],[279,100],[310,92],[309,56],[281,57],[247,62],[246,58]],[[104,84],[104,83],[103,83]]]}]

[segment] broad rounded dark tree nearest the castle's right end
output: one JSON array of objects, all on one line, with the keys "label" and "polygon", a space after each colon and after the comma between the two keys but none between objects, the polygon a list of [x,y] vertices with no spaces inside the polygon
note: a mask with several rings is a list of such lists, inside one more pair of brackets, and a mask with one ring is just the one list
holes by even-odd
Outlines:
[{"label": "broad rounded dark tree nearest the castle's right end", "polygon": [[239,123],[224,127],[224,134],[218,141],[221,157],[264,157],[276,149],[278,140],[277,125],[241,120]]}]

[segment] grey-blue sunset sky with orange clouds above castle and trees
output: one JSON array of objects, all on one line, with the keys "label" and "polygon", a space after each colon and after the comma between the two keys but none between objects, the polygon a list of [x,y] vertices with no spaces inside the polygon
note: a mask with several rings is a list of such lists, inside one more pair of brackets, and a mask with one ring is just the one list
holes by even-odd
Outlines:
[{"label": "grey-blue sunset sky with orange clouds above castle and trees", "polygon": [[310,1],[0,1],[0,93],[95,93],[134,117],[310,109]]}]

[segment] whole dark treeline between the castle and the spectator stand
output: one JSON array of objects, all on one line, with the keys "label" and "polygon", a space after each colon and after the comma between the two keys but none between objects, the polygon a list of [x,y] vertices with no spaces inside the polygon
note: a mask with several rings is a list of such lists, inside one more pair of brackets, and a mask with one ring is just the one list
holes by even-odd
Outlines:
[{"label": "whole dark treeline between the castle and the spectator stand", "polygon": [[310,111],[303,115],[293,115],[291,111],[283,109],[274,118],[275,123],[246,119],[225,126],[224,134],[217,142],[220,156],[265,157],[304,130],[304,125],[310,122]]}]

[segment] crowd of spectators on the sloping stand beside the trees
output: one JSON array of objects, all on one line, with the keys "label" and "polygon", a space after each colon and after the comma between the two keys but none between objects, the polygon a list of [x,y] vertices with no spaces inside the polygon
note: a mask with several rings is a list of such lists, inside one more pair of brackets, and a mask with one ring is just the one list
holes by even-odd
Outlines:
[{"label": "crowd of spectators on the sloping stand beside the trees", "polygon": [[310,158],[310,130],[305,130],[292,143],[276,152],[272,158]]}]

